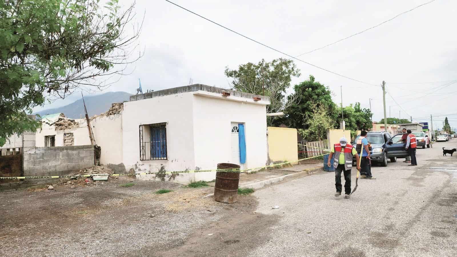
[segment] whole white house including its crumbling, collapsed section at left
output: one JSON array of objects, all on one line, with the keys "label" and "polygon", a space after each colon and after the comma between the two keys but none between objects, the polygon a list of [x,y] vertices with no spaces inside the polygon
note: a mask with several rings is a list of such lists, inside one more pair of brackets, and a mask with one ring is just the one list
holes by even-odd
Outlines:
[{"label": "whole white house including its crumbling, collapsed section at left", "polygon": [[[115,172],[207,170],[222,162],[255,168],[268,161],[269,101],[196,84],[131,96],[129,102],[90,118],[90,126],[101,147],[100,163]],[[57,113],[42,122],[37,147],[90,145],[85,119]],[[188,183],[211,181],[216,172],[137,177]]]}]

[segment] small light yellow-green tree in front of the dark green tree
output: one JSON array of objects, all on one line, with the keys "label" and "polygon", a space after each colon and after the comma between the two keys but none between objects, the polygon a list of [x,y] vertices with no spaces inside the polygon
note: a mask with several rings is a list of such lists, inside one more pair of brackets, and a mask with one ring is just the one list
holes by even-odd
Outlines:
[{"label": "small light yellow-green tree in front of the dark green tree", "polygon": [[330,117],[326,105],[311,103],[308,129],[298,129],[298,133],[308,141],[322,140],[327,137],[327,130],[335,128],[335,121]]}]

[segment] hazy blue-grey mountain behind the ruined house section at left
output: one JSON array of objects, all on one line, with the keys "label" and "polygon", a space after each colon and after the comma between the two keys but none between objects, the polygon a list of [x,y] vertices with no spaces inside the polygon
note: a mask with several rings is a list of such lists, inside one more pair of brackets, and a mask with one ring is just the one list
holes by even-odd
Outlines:
[{"label": "hazy blue-grey mountain behind the ruined house section at left", "polygon": [[[111,107],[112,103],[128,101],[131,95],[132,94],[127,92],[107,92],[96,96],[86,96],[84,97],[84,102],[87,108],[87,114],[91,117],[96,114],[98,115],[106,112]],[[65,117],[73,119],[85,117],[82,98],[62,107],[47,109],[36,113],[41,116],[54,113],[64,113]]]}]

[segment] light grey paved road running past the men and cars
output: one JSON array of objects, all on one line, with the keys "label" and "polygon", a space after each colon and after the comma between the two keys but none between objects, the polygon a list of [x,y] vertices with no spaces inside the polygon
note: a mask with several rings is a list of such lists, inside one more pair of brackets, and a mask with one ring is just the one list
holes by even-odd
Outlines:
[{"label": "light grey paved road running past the men and cars", "polygon": [[[372,168],[351,199],[335,197],[333,172],[255,192],[257,213],[278,216],[270,240],[248,256],[456,256],[457,154],[442,156],[457,139],[417,150],[419,166],[399,159]],[[355,168],[352,174],[355,185]],[[271,209],[279,205],[280,209]]]}]

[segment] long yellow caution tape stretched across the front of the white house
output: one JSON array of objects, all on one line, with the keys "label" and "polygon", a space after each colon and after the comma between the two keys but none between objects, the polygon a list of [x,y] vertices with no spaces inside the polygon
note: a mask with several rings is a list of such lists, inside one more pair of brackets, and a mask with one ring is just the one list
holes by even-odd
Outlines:
[{"label": "long yellow caution tape stretched across the front of the white house", "polygon": [[256,167],[256,168],[250,168],[250,169],[215,169],[215,170],[193,170],[193,171],[157,171],[157,172],[143,172],[143,173],[125,173],[125,174],[92,174],[92,175],[65,175],[65,176],[32,176],[32,177],[0,177],[0,179],[27,179],[27,178],[63,178],[63,177],[95,177],[95,176],[133,176],[133,175],[158,175],[158,174],[186,174],[186,173],[200,173],[200,172],[214,172],[214,171],[224,171],[224,172],[236,172],[236,173],[244,173],[246,171],[252,171],[252,170],[260,170],[263,168],[268,168],[268,167],[274,167],[274,166],[279,166],[283,164],[289,164],[292,162],[298,162],[298,161],[304,161],[308,159],[313,159],[316,157],[328,155],[327,154],[322,154],[322,155],[316,155],[313,157],[308,157],[308,158],[303,158],[297,161],[286,161],[282,163],[276,163],[276,164],[271,164],[267,166],[261,166],[261,167]]}]

